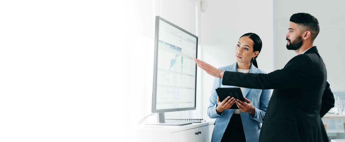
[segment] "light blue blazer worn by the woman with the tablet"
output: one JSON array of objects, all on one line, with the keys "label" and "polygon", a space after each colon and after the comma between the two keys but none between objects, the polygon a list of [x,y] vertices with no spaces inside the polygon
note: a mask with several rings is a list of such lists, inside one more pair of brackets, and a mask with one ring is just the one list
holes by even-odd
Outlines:
[{"label": "light blue blazer worn by the woman with the tablet", "polygon": [[[221,67],[219,69],[223,71],[237,72],[237,62],[235,62],[234,64],[230,66]],[[253,64],[250,65],[249,73],[267,74],[263,70],[256,68]],[[221,115],[218,115],[216,113],[217,97],[218,97],[216,88],[236,87],[236,86],[223,85],[221,83],[222,81],[223,79],[219,79],[219,78],[214,79],[211,96],[210,96],[210,105],[207,109],[207,115],[210,118],[217,118],[214,123],[215,127],[213,129],[211,142],[221,141],[221,138],[223,138],[223,134],[225,132],[225,129],[228,126],[230,118],[234,114],[234,111],[235,111],[235,109],[227,109],[227,110],[224,110]],[[248,81],[255,82],[255,80],[248,80]],[[240,112],[242,123],[243,123],[244,134],[246,136],[246,142],[259,141],[259,134],[260,134],[260,129],[261,129],[260,123],[262,123],[264,119],[268,101],[271,95],[272,95],[271,90],[244,88],[243,96],[249,99],[250,102],[252,102],[253,106],[255,107],[254,116],[250,115],[249,113],[243,113],[242,111]]]}]

